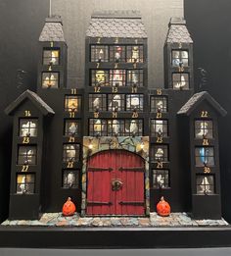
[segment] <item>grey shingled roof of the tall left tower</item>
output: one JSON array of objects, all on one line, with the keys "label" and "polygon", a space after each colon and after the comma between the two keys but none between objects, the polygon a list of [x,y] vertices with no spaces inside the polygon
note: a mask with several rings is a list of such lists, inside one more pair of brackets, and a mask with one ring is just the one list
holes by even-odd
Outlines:
[{"label": "grey shingled roof of the tall left tower", "polygon": [[49,17],[39,36],[40,42],[65,42],[62,20],[58,16]]}]

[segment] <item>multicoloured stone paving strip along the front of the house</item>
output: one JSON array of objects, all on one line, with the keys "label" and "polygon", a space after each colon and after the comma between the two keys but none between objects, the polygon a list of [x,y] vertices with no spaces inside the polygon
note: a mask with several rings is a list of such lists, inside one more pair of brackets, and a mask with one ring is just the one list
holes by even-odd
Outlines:
[{"label": "multicoloured stone paving strip along the front of the house", "polygon": [[149,218],[133,217],[79,217],[74,214],[64,217],[62,213],[45,213],[38,221],[9,221],[2,226],[48,226],[48,227],[224,227],[229,224],[221,220],[193,220],[186,213],[171,213],[161,217],[151,213]]}]

